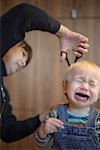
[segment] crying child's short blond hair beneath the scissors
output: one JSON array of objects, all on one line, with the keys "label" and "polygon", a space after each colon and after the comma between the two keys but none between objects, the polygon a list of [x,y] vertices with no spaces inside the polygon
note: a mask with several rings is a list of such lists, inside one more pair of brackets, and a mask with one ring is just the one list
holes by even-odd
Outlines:
[{"label": "crying child's short blond hair beneath the scissors", "polygon": [[91,71],[99,79],[100,82],[100,67],[96,65],[94,62],[81,60],[76,63],[73,63],[67,70],[63,82],[69,81],[72,79],[73,74],[77,73],[80,70]]}]

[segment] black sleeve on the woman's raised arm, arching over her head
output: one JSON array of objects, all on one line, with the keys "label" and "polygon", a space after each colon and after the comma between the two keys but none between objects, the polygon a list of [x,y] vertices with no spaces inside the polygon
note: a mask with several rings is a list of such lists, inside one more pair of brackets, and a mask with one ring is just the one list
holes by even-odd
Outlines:
[{"label": "black sleeve on the woman's raised arm, arching over her head", "polygon": [[1,17],[1,54],[23,40],[25,32],[32,30],[56,33],[60,23],[53,17],[30,4],[20,4]]}]

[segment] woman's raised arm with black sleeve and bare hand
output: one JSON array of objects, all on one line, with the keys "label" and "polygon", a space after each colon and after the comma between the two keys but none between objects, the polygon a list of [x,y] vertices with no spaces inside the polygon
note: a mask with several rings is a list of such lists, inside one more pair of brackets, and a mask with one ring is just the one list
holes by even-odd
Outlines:
[{"label": "woman's raised arm with black sleeve and bare hand", "polygon": [[[44,10],[31,4],[19,4],[1,17],[1,56],[22,41],[25,33],[33,30],[47,31],[60,40],[60,51],[71,49],[76,55],[87,52],[88,38],[71,31]],[[1,33],[0,32],[0,33]],[[65,59],[65,54],[62,55]]]}]

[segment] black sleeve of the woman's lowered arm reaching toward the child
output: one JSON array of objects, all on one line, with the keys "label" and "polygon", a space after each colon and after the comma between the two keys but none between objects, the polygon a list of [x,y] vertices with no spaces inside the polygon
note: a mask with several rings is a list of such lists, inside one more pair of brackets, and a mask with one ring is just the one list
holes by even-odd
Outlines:
[{"label": "black sleeve of the woman's lowered arm reaching toward the child", "polygon": [[9,95],[5,88],[4,92],[6,96],[5,105],[1,97],[1,108],[4,106],[1,114],[1,139],[8,143],[32,134],[41,124],[43,117],[41,116],[41,118],[39,118],[39,115],[37,115],[23,121],[18,121],[15,115],[12,114],[12,108],[9,104]]}]

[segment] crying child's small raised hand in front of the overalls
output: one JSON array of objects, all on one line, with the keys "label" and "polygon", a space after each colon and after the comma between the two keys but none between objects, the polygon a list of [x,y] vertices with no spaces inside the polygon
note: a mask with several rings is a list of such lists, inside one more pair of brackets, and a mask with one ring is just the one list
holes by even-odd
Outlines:
[{"label": "crying child's small raised hand in front of the overalls", "polygon": [[48,134],[52,134],[57,132],[57,128],[63,129],[63,122],[56,118],[49,118],[43,123],[39,128],[39,136],[41,138],[45,138]]}]

